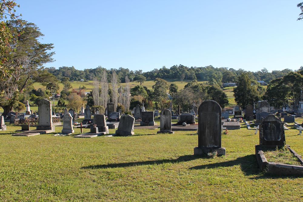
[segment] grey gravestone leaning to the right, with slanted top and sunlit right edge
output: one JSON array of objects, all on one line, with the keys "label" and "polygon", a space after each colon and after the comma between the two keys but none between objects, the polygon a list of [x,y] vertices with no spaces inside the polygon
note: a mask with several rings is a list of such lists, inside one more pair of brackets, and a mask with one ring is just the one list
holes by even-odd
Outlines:
[{"label": "grey gravestone leaning to the right, with slanted top and sunlit right edge", "polygon": [[135,134],[134,132],[135,118],[131,115],[122,115],[116,130],[118,136],[129,136]]}]

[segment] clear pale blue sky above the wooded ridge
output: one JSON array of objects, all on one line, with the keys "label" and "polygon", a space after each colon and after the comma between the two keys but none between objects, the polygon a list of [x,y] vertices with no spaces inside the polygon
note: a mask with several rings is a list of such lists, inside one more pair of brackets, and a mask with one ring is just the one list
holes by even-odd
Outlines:
[{"label": "clear pale blue sky above the wooded ridge", "polygon": [[258,71],[303,65],[302,0],[18,1],[53,43],[53,63],[150,71],[173,65]]}]

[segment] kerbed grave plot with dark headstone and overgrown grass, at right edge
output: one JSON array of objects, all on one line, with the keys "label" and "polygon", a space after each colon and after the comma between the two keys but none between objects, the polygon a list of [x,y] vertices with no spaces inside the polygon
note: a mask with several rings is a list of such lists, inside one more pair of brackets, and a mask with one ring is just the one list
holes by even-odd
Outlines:
[{"label": "kerbed grave plot with dark headstone and overgrown grass, at right edge", "polygon": [[[269,174],[302,175],[303,160],[290,146],[285,145],[284,124],[281,118],[278,119],[275,115],[270,114],[261,121],[259,127],[260,144],[255,145],[255,154],[260,169]],[[270,162],[270,160],[275,162]]]}]

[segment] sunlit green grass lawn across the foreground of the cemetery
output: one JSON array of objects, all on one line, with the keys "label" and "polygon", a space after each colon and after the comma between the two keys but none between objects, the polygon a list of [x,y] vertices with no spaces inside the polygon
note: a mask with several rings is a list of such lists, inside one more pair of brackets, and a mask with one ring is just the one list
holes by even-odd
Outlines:
[{"label": "sunlit green grass lawn across the foreground of the cemetery", "polygon": [[[259,136],[244,126],[222,135],[226,156],[214,158],[193,155],[195,132],[135,129],[131,137],[82,139],[13,137],[20,127],[7,128],[0,131],[0,201],[303,200],[302,177],[259,171]],[[285,131],[286,144],[302,155],[297,134]]]}]

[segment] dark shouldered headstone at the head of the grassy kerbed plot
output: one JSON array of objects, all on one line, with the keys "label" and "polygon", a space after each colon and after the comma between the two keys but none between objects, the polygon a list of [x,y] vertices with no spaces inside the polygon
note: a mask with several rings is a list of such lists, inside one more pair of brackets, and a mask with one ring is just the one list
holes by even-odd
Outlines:
[{"label": "dark shouldered headstone at the head of the grassy kerbed plot", "polygon": [[261,146],[284,146],[285,133],[281,118],[278,119],[273,114],[269,114],[265,119],[262,118],[259,138]]}]

